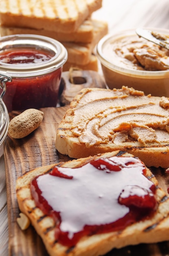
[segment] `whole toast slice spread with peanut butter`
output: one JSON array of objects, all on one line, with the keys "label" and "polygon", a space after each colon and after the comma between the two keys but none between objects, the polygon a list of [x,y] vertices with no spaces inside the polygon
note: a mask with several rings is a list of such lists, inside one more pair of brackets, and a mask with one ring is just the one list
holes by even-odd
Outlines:
[{"label": "whole toast slice spread with peanut butter", "polygon": [[87,88],[70,103],[56,149],[72,158],[124,150],[147,166],[169,166],[169,99],[121,89]]}]

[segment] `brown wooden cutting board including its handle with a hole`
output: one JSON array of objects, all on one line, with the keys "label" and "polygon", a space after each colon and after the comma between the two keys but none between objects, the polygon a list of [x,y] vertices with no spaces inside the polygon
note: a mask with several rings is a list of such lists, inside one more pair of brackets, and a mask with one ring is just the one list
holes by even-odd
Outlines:
[{"label": "brown wooden cutting board including its handle with a hole", "polygon": [[[44,245],[31,227],[22,232],[16,223],[19,209],[15,195],[15,182],[18,177],[36,167],[66,162],[70,160],[61,155],[55,148],[56,129],[68,104],[82,88],[105,88],[105,81],[94,71],[72,70],[63,72],[59,90],[61,108],[42,108],[44,120],[40,127],[24,139],[13,139],[9,136],[4,141],[4,161],[7,183],[7,210],[9,222],[9,255],[10,256],[45,256]],[[21,111],[10,113],[10,119]]]}]

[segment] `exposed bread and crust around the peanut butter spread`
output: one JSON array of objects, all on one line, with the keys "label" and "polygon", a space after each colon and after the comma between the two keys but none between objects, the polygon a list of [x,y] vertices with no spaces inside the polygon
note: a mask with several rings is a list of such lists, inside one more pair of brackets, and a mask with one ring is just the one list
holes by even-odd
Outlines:
[{"label": "exposed bread and crust around the peanut butter spread", "polygon": [[[105,153],[105,152],[112,152],[114,150],[124,150],[128,153],[131,153],[138,158],[140,158],[146,166],[154,166],[154,167],[162,167],[168,168],[169,166],[169,141],[165,141],[165,143],[147,143],[144,145],[138,141],[131,141],[131,142],[124,142],[122,144],[115,144],[112,141],[108,143],[100,143],[94,144],[92,146],[86,146],[85,143],[79,141],[78,135],[75,136],[72,133],[72,124],[73,120],[76,118],[76,111],[81,106],[86,106],[92,101],[94,102],[95,99],[92,98],[90,100],[90,92],[93,92],[92,97],[94,97],[94,93],[100,92],[104,93],[105,90],[110,94],[113,94],[113,90],[108,89],[99,89],[99,88],[92,88],[92,89],[83,89],[79,94],[76,95],[74,100],[70,103],[70,107],[66,111],[59,127],[57,128],[57,135],[56,135],[56,142],[55,146],[56,149],[65,155],[69,155],[72,158],[80,158],[80,157],[88,157],[90,155],[95,155],[98,153]],[[116,90],[115,93],[121,92],[122,89]],[[89,97],[88,97],[89,94]],[[83,103],[83,97],[86,99],[89,98],[89,101]],[[140,96],[138,96],[139,98]],[[82,99],[82,103],[81,103]],[[112,108],[113,108],[113,100],[114,97],[110,95],[110,99],[112,99]],[[149,99],[153,101],[160,100],[160,97],[149,97]],[[142,99],[140,99],[141,101]],[[97,100],[96,100],[97,101]],[[102,105],[103,106],[103,105]],[[94,107],[94,105],[93,105]],[[88,110],[92,112],[91,110]],[[99,113],[100,110],[98,110]],[[84,114],[85,115],[85,114]],[[166,131],[167,135],[167,131]],[[168,135],[167,135],[168,136]]]}]

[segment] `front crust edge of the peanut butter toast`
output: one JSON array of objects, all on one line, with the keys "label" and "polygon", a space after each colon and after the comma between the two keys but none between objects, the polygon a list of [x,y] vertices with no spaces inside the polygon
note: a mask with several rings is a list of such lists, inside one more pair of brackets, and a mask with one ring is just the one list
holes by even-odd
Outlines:
[{"label": "front crust edge of the peanut butter toast", "polygon": [[147,167],[162,167],[168,168],[169,166],[169,145],[155,146],[155,147],[131,147],[115,146],[105,144],[94,145],[90,148],[86,148],[85,144],[80,144],[75,139],[62,137],[60,131],[57,130],[56,148],[63,154],[68,155],[71,158],[88,157],[89,155],[103,154],[106,152],[112,152],[114,150],[126,151],[144,161]]}]

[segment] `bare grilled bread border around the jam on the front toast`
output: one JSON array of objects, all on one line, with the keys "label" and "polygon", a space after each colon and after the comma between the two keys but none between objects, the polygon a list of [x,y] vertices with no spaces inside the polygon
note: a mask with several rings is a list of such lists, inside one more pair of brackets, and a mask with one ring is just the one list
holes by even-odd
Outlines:
[{"label": "bare grilled bread border around the jam on the front toast", "polygon": [[[27,172],[22,177],[18,178],[16,182],[16,194],[20,211],[22,211],[29,217],[32,225],[35,227],[35,230],[41,236],[50,256],[98,256],[109,252],[113,248],[121,248],[127,245],[136,245],[139,243],[157,243],[169,239],[168,195],[165,193],[165,191],[158,187],[158,181],[156,180],[154,175],[152,175],[151,171],[142,162],[140,162],[139,165],[143,166],[145,170],[145,176],[148,178],[147,182],[154,183],[154,187],[156,188],[155,197],[157,201],[157,207],[152,214],[128,225],[120,231],[105,231],[103,232],[103,234],[92,234],[90,236],[84,235],[72,247],[62,245],[61,243],[56,241],[55,221],[52,217],[44,214],[43,211],[36,206],[35,201],[31,195],[31,181],[38,175],[48,173],[55,166],[78,168],[76,169],[76,172],[80,172],[79,168],[85,164],[90,163],[92,160],[107,159],[109,157],[117,157],[117,162],[119,163],[119,166],[121,166],[121,164],[123,166],[125,161],[123,159],[125,159],[126,157],[129,157],[129,159],[133,163],[135,161],[140,162],[139,159],[136,159],[128,153],[114,151],[111,153],[105,153],[103,155],[95,155],[93,157],[87,157],[77,160],[74,159],[65,163],[62,162],[59,164],[52,164],[50,166],[41,166],[33,171]],[[128,167],[128,170],[130,170],[130,166]],[[136,172],[136,175],[138,175],[138,167],[135,169],[134,172]],[[110,173],[108,175],[110,175]],[[120,179],[119,185],[121,182],[122,180]],[[135,184],[135,182],[136,180],[134,180],[133,184]],[[55,190],[57,191],[57,187],[55,187]],[[70,208],[75,207],[75,205],[73,206],[73,200],[71,200],[70,202]],[[85,204],[85,202],[83,202],[83,204]],[[90,211],[90,206],[86,205],[86,207],[89,208]],[[104,207],[104,205],[102,206],[101,204],[101,207]]]}]

